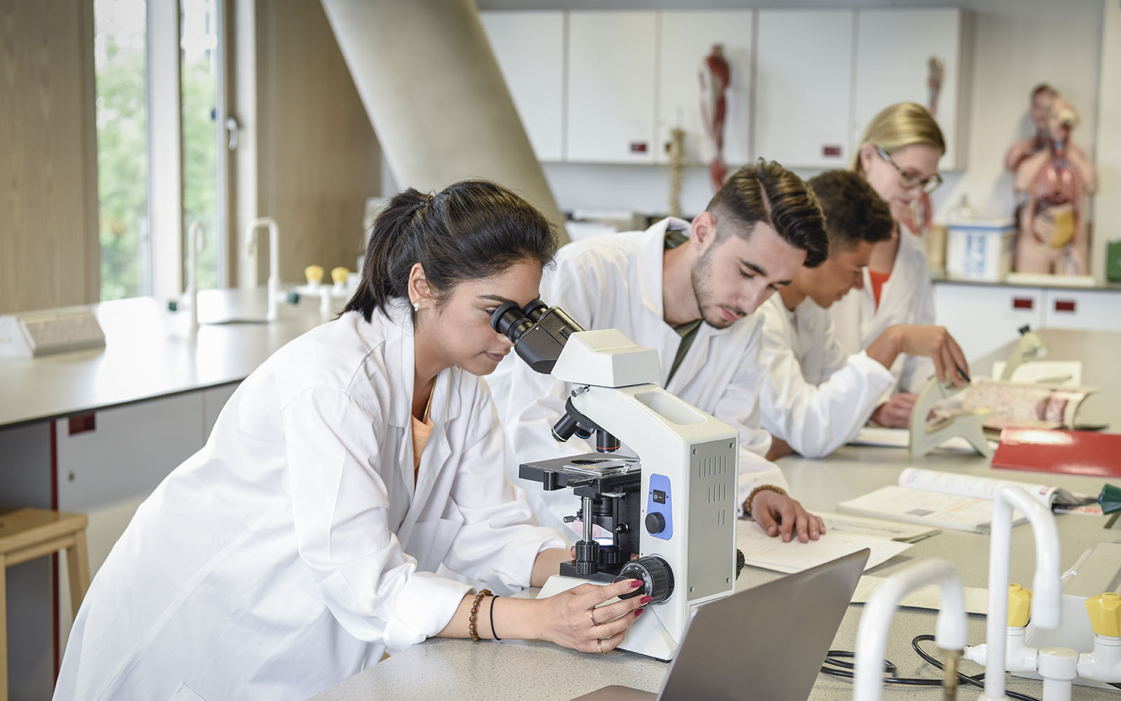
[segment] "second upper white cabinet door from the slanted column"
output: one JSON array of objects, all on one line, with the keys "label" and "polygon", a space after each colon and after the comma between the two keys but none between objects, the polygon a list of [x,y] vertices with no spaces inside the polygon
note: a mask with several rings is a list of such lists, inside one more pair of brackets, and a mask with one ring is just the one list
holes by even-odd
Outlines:
[{"label": "second upper white cabinet door from the slanted column", "polygon": [[568,15],[565,158],[654,163],[658,15]]}]

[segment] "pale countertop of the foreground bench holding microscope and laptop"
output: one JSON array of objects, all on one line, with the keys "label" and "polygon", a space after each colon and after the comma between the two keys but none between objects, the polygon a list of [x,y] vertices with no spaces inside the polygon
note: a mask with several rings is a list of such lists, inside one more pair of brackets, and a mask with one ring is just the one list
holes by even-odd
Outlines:
[{"label": "pale countertop of the foreground bench holding microscope and laptop", "polygon": [[[1121,372],[1117,370],[1115,354],[1121,350],[1121,333],[1044,330],[1040,335],[1051,347],[1053,359],[1082,360],[1084,377],[1096,384],[1109,402],[1086,405],[1093,418],[1110,424],[1112,431],[1121,428]],[[978,362],[991,366],[1002,352]],[[1088,400],[1087,400],[1088,402]],[[812,510],[835,511],[836,504],[886,485],[895,483],[899,471],[909,464],[934,470],[966,474],[998,477],[1028,482],[1060,485],[1073,491],[1097,494],[1102,480],[1086,477],[1059,476],[1036,472],[992,470],[989,461],[974,454],[936,451],[927,458],[911,461],[905,449],[846,445],[821,460],[797,456],[779,461],[793,494]],[[1115,480],[1114,480],[1115,481]],[[1121,531],[1103,529],[1105,517],[1083,515],[1057,516],[1062,538],[1063,568],[1071,566],[1084,550],[1100,542],[1121,542]],[[741,524],[742,526],[742,524]],[[796,547],[796,545],[795,545]],[[1035,568],[1035,546],[1029,526],[1012,531],[1011,575],[1013,582],[1030,582]],[[920,541],[887,563],[870,571],[886,577],[908,563],[926,557],[945,557],[962,571],[966,587],[988,588],[989,539],[982,535],[943,531]],[[761,584],[781,577],[756,568],[744,568],[736,582],[736,590]],[[863,607],[850,605],[832,647],[852,651],[856,627]],[[920,634],[933,634],[935,612],[900,609],[892,621],[887,657],[899,666],[900,676],[936,679],[939,673],[924,663],[910,648],[910,640]],[[970,616],[970,644],[984,642],[984,617]],[[766,631],[744,630],[743,635],[766,635]],[[925,649],[933,654],[934,644]],[[735,651],[728,651],[735,655]],[[791,651],[790,654],[797,654]],[[377,698],[397,701],[425,698],[456,698],[463,701],[556,699],[566,700],[608,684],[623,684],[657,691],[668,665],[624,652],[604,655],[581,654],[541,642],[503,640],[501,643],[472,643],[466,639],[433,638],[393,654],[386,660],[332,689],[314,697],[314,701],[351,701]],[[963,663],[966,674],[983,670]],[[1041,682],[1008,677],[1008,689],[1039,698]],[[751,699],[745,689],[744,698]],[[883,699],[928,699],[938,692],[927,686],[888,685]],[[976,688],[960,689],[958,698],[975,698]],[[810,701],[834,701],[852,698],[852,683],[847,680],[818,675]],[[1075,686],[1074,698],[1085,701],[1117,700],[1121,692]]]}]

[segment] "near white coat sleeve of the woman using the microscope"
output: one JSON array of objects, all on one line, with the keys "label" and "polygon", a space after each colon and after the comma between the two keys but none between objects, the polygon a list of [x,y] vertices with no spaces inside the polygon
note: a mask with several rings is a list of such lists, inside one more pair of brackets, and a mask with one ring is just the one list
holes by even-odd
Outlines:
[{"label": "near white coat sleeve of the woman using the microscope", "polygon": [[395,649],[443,630],[471,588],[418,572],[390,529],[389,492],[371,464],[385,422],[325,388],[304,390],[282,416],[296,546],[332,615]]}]

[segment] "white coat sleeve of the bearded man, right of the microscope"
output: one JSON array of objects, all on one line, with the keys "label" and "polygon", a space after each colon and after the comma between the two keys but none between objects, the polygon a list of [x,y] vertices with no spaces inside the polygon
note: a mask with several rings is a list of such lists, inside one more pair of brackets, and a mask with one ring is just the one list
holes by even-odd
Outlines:
[{"label": "white coat sleeve of the bearded man, right of the microscope", "polygon": [[767,372],[759,358],[761,332],[762,324],[757,323],[748,351],[712,412],[713,416],[740,434],[740,464],[736,474],[739,498],[735,504],[741,515],[743,502],[756,487],[773,485],[786,491],[790,490],[782,471],[766,458],[770,450],[770,434],[762,430],[759,418],[759,390]]}]

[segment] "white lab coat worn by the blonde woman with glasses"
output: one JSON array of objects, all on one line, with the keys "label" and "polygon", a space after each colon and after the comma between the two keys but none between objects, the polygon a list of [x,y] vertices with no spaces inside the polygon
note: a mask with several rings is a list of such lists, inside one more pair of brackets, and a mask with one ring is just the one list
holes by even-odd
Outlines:
[{"label": "white lab coat worn by the blonde woman with glasses", "polygon": [[[906,229],[899,232],[899,250],[891,268],[891,277],[880,290],[880,306],[876,306],[872,283],[864,268],[864,288],[850,290],[830,307],[833,332],[846,353],[858,353],[880,338],[895,324],[933,324],[934,286],[926,253],[918,238]],[[900,391],[917,393],[934,375],[934,363],[921,356],[900,354],[891,365],[896,378],[881,403]]]}]

